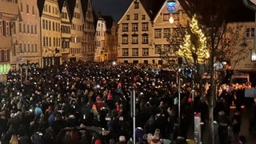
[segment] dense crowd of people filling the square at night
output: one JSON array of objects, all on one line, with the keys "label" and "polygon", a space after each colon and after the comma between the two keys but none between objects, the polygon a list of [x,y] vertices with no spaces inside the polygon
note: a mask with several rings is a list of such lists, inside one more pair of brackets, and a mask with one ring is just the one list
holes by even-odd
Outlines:
[{"label": "dense crowd of people filling the square at night", "polygon": [[[31,68],[26,76],[16,70],[7,75],[0,83],[2,143],[128,143],[130,138],[138,143],[182,143],[194,126],[194,111],[207,122],[206,99],[195,89],[192,102],[189,82],[182,84],[178,115],[176,75],[162,74],[155,66],[64,62]],[[225,110],[223,106],[216,111]],[[108,133],[97,134],[86,126]]]}]

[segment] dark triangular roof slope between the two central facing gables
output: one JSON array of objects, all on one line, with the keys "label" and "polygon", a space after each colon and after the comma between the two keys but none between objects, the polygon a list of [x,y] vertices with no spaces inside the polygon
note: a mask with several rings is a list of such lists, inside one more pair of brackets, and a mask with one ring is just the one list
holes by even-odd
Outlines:
[{"label": "dark triangular roof slope between the two central facing gables", "polygon": [[150,16],[150,19],[154,20],[166,0],[140,0],[140,2],[146,10],[146,13]]}]

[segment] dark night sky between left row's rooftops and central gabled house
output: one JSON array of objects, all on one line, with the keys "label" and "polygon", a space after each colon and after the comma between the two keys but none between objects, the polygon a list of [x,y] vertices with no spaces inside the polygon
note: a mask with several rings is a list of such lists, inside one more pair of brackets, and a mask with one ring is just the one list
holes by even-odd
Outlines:
[{"label": "dark night sky between left row's rooftops and central gabled house", "polygon": [[132,0],[92,0],[96,13],[100,11],[103,15],[111,15],[116,22],[122,17],[130,6]]}]

